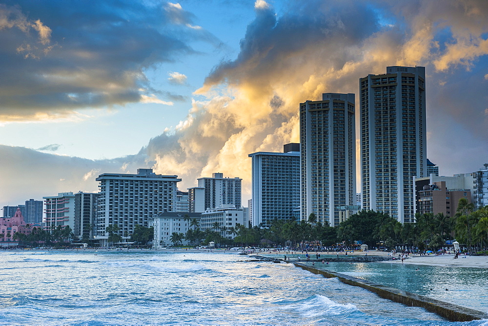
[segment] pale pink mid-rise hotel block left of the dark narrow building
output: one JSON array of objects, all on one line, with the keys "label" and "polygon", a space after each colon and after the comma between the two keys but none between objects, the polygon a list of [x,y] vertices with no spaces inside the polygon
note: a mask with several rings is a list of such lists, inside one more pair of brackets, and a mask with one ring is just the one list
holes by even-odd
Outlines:
[{"label": "pale pink mid-rise hotel block left of the dark narrow building", "polygon": [[75,195],[73,193],[59,193],[58,196],[46,196],[44,212],[46,229],[52,230],[57,226],[75,228]]}]

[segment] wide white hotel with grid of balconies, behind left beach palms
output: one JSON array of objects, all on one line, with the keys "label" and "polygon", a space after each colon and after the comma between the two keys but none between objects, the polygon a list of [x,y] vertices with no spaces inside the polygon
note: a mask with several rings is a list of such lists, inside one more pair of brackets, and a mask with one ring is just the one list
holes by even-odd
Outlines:
[{"label": "wide white hotel with grid of balconies, behind left beach palms", "polygon": [[152,169],[138,169],[137,174],[100,174],[97,235],[107,243],[106,227],[119,227],[119,235],[129,239],[136,225],[149,227],[149,218],[174,211],[177,175],[161,175]]}]

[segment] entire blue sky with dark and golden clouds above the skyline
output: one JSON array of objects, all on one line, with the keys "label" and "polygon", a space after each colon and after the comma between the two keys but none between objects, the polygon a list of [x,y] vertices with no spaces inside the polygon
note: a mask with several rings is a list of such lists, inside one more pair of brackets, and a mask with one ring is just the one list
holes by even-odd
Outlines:
[{"label": "entire blue sky with dark and golden clouds above the skyline", "polygon": [[300,103],[355,93],[358,116],[389,65],[426,67],[441,175],[488,163],[488,1],[3,0],[0,44],[0,206],[138,168],[241,177],[245,203]]}]

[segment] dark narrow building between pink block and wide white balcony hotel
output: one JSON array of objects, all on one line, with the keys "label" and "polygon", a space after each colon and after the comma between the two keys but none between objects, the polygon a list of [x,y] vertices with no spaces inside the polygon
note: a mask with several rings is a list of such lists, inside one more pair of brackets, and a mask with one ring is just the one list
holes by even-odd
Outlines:
[{"label": "dark narrow building between pink block and wide white balcony hotel", "polygon": [[93,239],[97,224],[98,193],[75,194],[73,233],[79,239]]}]

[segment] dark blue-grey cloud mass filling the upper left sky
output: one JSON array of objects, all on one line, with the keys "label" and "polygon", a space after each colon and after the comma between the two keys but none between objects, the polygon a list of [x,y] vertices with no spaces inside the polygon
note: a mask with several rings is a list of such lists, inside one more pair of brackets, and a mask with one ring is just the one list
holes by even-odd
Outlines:
[{"label": "dark blue-grey cloud mass filling the upper left sky", "polygon": [[138,102],[140,89],[149,87],[145,68],[195,53],[191,40],[212,39],[191,25],[187,12],[167,6],[129,0],[3,1],[0,116]]}]

